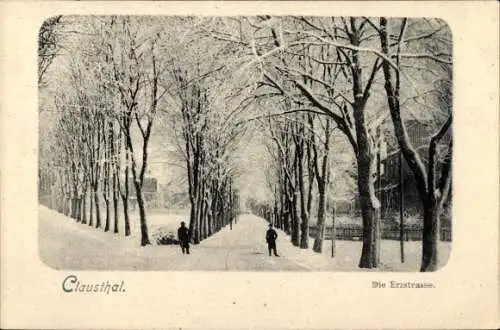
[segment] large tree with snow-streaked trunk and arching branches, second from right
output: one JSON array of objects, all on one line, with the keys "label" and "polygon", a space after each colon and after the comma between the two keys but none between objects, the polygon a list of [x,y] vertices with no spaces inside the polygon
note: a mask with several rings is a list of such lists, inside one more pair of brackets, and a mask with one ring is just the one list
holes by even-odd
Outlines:
[{"label": "large tree with snow-streaked trunk and arching branches, second from right", "polygon": [[[301,111],[321,112],[329,116],[342,131],[354,150],[358,167],[358,191],[363,214],[363,249],[359,266],[372,268],[378,266],[379,251],[379,206],[375,196],[373,169],[375,160],[374,139],[369,131],[366,114],[367,102],[376,73],[381,62],[376,56],[373,59],[368,74],[363,73],[364,63],[360,53],[365,53],[363,43],[371,42],[370,26],[366,20],[359,18],[322,19],[322,18],[247,18],[248,25],[253,27],[254,36],[246,43],[253,50],[252,63],[260,66],[262,84],[274,88],[282,96],[297,100],[305,106]],[[289,23],[290,22],[290,23]],[[288,24],[287,24],[288,23]],[[300,30],[294,29],[299,26]],[[270,36],[261,43],[257,43],[257,31],[269,31]],[[286,37],[285,37],[286,36]],[[219,39],[227,39],[216,35]],[[285,39],[286,38],[286,39]],[[230,41],[231,42],[231,41]],[[316,48],[308,53],[308,57],[322,66],[333,67],[342,65],[339,71],[343,80],[337,76],[336,81],[343,88],[337,88],[335,94],[328,95],[334,88],[331,80],[323,79],[323,72],[311,75],[297,66],[298,58],[302,55],[303,47]],[[318,56],[318,49],[329,47],[332,49],[328,61]],[[272,57],[278,59],[272,61]],[[283,60],[286,57],[288,60]],[[330,69],[332,74],[334,70]],[[319,75],[318,75],[319,73]],[[281,78],[280,78],[281,77]],[[304,78],[312,81],[313,88],[304,83]],[[331,77],[327,77],[331,79]],[[349,96],[349,93],[351,94]]]}]

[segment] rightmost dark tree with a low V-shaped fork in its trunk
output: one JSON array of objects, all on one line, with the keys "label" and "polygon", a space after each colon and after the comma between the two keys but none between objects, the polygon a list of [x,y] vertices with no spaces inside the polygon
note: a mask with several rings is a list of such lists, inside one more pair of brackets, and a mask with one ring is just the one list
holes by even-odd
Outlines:
[{"label": "rightmost dark tree with a low V-shaped fork in its trunk", "polygon": [[[392,22],[394,25],[394,22]],[[432,33],[424,34],[420,39],[427,39],[431,35],[443,29],[441,23],[437,29],[432,30]],[[444,202],[448,198],[451,186],[451,162],[452,162],[452,139],[448,143],[448,151],[444,164],[438,171],[437,157],[439,154],[439,144],[447,131],[451,127],[452,115],[448,114],[447,119],[442,126],[432,136],[429,143],[429,154],[427,167],[418,152],[415,150],[404,120],[401,116],[401,86],[402,86],[402,57],[412,58],[430,58],[433,61],[448,65],[446,58],[447,53],[420,53],[405,55],[401,52],[402,45],[408,43],[410,39],[417,40],[415,36],[404,39],[407,29],[407,19],[402,19],[399,24],[399,33],[395,35],[397,38],[395,43],[390,42],[391,24],[390,20],[385,17],[380,18],[380,45],[382,53],[386,58],[395,58],[396,65],[391,66],[388,61],[383,62],[383,70],[385,77],[385,90],[391,113],[392,123],[394,125],[394,132],[398,141],[398,145],[403,153],[407,163],[409,164],[415,179],[417,181],[417,190],[422,202],[424,210],[424,228],[423,228],[423,244],[422,244],[422,264],[421,271],[434,271],[437,269],[438,249],[437,244],[439,241],[439,218],[443,209]],[[444,57],[443,57],[444,55]],[[450,91],[451,92],[451,91]],[[444,106],[449,106],[451,98],[445,101]],[[447,112],[445,109],[445,112]]]}]

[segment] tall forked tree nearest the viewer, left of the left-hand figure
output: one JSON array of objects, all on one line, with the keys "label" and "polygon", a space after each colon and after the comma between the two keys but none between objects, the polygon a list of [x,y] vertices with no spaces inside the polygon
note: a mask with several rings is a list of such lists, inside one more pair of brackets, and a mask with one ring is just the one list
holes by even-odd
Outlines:
[{"label": "tall forked tree nearest the viewer, left of the left-hand figure", "polygon": [[[149,18],[144,18],[148,22]],[[160,63],[157,42],[160,31],[141,35],[141,19],[113,18],[111,29],[123,29],[119,46],[108,44],[116,88],[120,95],[122,111],[117,116],[123,133],[127,157],[139,207],[141,246],[150,244],[143,196],[144,176],[148,166],[148,145],[155,121],[158,102],[164,95],[159,91]],[[115,31],[116,32],[116,31]],[[150,31],[147,31],[150,32]],[[142,39],[141,39],[142,38]],[[150,68],[149,70],[147,68]],[[141,98],[141,92],[144,93]],[[142,101],[142,102],[140,102]],[[141,149],[134,149],[132,124],[137,126],[141,137]],[[138,159],[140,157],[140,161]],[[128,170],[128,167],[126,167]]]}]

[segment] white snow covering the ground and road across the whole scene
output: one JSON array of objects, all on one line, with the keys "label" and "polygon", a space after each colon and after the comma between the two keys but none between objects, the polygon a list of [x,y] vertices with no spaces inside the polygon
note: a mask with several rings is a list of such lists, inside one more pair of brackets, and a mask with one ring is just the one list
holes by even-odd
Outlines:
[{"label": "white snow covering the ground and road across the whole scene", "polygon": [[[175,232],[187,213],[148,214],[150,233],[167,226]],[[139,246],[136,224],[132,216],[132,235],[105,233],[77,223],[46,207],[39,208],[39,247],[41,259],[56,269],[67,270],[232,270],[232,271],[360,271],[357,267],[361,242],[337,241],[336,257],[331,258],[331,241],[325,241],[323,253],[293,246],[290,237],[278,230],[278,253],[269,257],[265,243],[265,220],[243,214],[238,222],[223,228],[199,245],[192,253],[182,255],[178,246]],[[399,242],[383,241],[380,270],[418,271],[420,243],[405,242],[406,263],[399,262]],[[447,260],[450,243],[441,245],[442,259]],[[445,263],[445,262],[444,262]],[[377,271],[377,270],[375,270]]]}]

